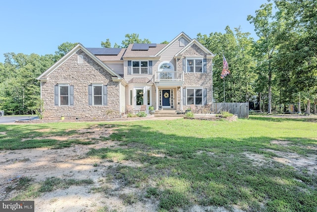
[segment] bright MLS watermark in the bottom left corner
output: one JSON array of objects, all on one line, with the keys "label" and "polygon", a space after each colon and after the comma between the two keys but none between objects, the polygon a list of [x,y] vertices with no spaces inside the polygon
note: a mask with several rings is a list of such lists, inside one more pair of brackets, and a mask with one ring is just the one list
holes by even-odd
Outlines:
[{"label": "bright MLS watermark in the bottom left corner", "polygon": [[0,212],[34,212],[34,201],[0,201]]}]

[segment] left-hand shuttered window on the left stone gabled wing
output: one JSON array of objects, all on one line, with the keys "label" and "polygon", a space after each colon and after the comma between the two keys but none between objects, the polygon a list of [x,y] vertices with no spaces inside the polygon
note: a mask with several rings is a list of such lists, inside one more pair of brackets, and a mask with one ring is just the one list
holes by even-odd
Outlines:
[{"label": "left-hand shuttered window on the left stone gabled wing", "polygon": [[58,84],[54,86],[54,105],[73,106],[74,86],[68,84]]}]

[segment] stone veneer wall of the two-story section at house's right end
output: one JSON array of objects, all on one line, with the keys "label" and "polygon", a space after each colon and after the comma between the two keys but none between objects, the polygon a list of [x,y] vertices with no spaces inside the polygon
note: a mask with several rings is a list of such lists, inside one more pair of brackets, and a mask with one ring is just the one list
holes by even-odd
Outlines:
[{"label": "stone veneer wall of the two-story section at house's right end", "polygon": [[[184,53],[182,59],[186,57],[203,57],[206,58],[206,53],[201,50],[196,44],[188,48]],[[177,61],[177,71],[183,71],[183,60]],[[220,76],[219,76],[220,77]],[[212,103],[212,59],[207,59],[207,72],[206,73],[184,73],[184,85],[186,87],[203,87],[207,88],[207,104]],[[177,94],[180,97],[180,89],[178,89]],[[178,99],[180,101],[180,99]],[[177,101],[178,101],[177,100]],[[189,105],[183,105],[183,110],[185,110]],[[201,106],[203,109],[204,106]],[[178,105],[177,109],[180,109]]]}]

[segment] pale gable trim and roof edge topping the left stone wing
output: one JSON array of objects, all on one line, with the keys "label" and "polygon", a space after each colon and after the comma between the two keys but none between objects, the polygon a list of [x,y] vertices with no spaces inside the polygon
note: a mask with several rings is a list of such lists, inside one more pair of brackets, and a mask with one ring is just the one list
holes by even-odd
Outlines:
[{"label": "pale gable trim and roof edge topping the left stone wing", "polygon": [[67,61],[71,56],[73,56],[78,50],[82,50],[86,53],[90,58],[92,58],[96,63],[98,63],[102,68],[108,71],[112,76],[116,76],[119,79],[122,77],[111,70],[106,64],[104,64],[99,58],[97,58],[93,53],[88,51],[82,44],[78,43],[72,50],[70,50],[66,55],[64,55],[61,59],[59,59],[56,63],[53,64],[48,70],[44,71],[39,77],[38,80],[47,80],[49,75],[55,71],[59,66],[61,66],[65,61]]}]

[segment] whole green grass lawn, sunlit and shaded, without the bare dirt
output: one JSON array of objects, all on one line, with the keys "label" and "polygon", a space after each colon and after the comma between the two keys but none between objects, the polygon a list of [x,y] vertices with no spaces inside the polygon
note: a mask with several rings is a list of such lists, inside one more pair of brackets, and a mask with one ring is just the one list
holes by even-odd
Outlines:
[{"label": "whole green grass lawn, sunlit and shaded, without the bare dirt", "polygon": [[[72,129],[89,125],[93,124],[72,123]],[[317,211],[316,172],[307,173],[272,160],[278,157],[276,151],[316,156],[314,119],[250,116],[236,122],[177,119],[117,122],[111,126],[116,129],[109,139],[120,141],[120,147],[91,149],[87,156],[142,164],[109,167],[110,179],[143,189],[144,198],[159,202],[159,211],[186,211],[192,205],[229,210],[237,206],[250,212]],[[11,142],[13,135],[20,140],[35,137],[34,130],[41,128],[52,129],[46,132],[50,135],[62,134],[67,125],[0,126],[0,132],[6,132],[0,134],[0,148],[16,149],[20,141]],[[271,141],[288,141],[288,145]],[[50,141],[48,146],[55,147],[56,143]],[[246,154],[262,156],[263,164],[254,165]],[[142,199],[142,194],[120,198],[125,204],[133,204]]]}]

